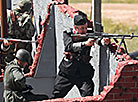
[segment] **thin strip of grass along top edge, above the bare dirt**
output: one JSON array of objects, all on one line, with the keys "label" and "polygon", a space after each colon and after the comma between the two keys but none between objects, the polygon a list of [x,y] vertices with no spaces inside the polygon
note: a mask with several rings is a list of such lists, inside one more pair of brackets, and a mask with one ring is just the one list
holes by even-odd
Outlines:
[{"label": "thin strip of grass along top edge, above the bare dirt", "polygon": [[[69,0],[70,3],[91,3],[91,0]],[[138,3],[138,0],[102,0],[103,3]]]}]

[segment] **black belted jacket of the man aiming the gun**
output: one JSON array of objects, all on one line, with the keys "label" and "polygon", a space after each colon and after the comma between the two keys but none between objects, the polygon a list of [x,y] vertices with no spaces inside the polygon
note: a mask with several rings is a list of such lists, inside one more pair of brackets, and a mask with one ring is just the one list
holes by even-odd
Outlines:
[{"label": "black belted jacket of the man aiming the gun", "polygon": [[91,47],[84,46],[87,39],[71,37],[73,30],[69,29],[63,32],[63,41],[65,52],[69,52],[71,58],[64,57],[59,65],[60,73],[66,76],[93,77],[94,69],[89,63],[85,62],[83,57],[91,58]]}]

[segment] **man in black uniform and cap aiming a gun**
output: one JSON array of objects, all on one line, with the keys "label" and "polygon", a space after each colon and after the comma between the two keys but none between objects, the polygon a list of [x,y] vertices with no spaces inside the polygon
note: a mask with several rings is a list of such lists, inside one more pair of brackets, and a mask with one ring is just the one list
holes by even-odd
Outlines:
[{"label": "man in black uniform and cap aiming a gun", "polygon": [[[74,30],[74,31],[73,31]],[[59,65],[59,73],[55,79],[52,98],[63,98],[76,85],[82,97],[92,96],[94,83],[93,66],[89,63],[90,49],[94,45],[95,39],[84,39],[71,37],[75,34],[86,34],[87,19],[84,15],[74,17],[74,29],[63,32],[63,42],[65,46],[65,57]],[[109,40],[105,39],[109,44]]]}]

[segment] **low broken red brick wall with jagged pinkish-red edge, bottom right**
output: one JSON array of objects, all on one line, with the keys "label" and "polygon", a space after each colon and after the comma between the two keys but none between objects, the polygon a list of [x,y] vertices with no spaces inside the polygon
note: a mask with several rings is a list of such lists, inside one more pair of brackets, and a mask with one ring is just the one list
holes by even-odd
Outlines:
[{"label": "low broken red brick wall with jagged pinkish-red edge, bottom right", "polygon": [[59,98],[42,102],[138,102],[138,61],[120,61],[111,82],[100,95]]}]

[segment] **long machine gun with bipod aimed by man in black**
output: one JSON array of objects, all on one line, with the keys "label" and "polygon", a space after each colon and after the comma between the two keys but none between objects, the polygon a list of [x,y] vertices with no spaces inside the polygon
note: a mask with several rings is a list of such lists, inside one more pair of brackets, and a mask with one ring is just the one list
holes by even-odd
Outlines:
[{"label": "long machine gun with bipod aimed by man in black", "polygon": [[71,34],[71,36],[72,37],[81,37],[81,38],[94,38],[94,39],[98,39],[98,38],[100,38],[100,39],[102,39],[102,38],[121,39],[118,49],[115,53],[115,56],[118,54],[118,50],[122,43],[124,43],[126,53],[129,54],[127,51],[127,47],[126,47],[124,39],[132,39],[134,37],[138,37],[138,35],[134,35],[134,33],[132,33],[130,35],[124,35],[124,34],[110,34],[110,33],[104,33],[104,32],[94,32],[94,33],[86,33],[86,34]]}]

